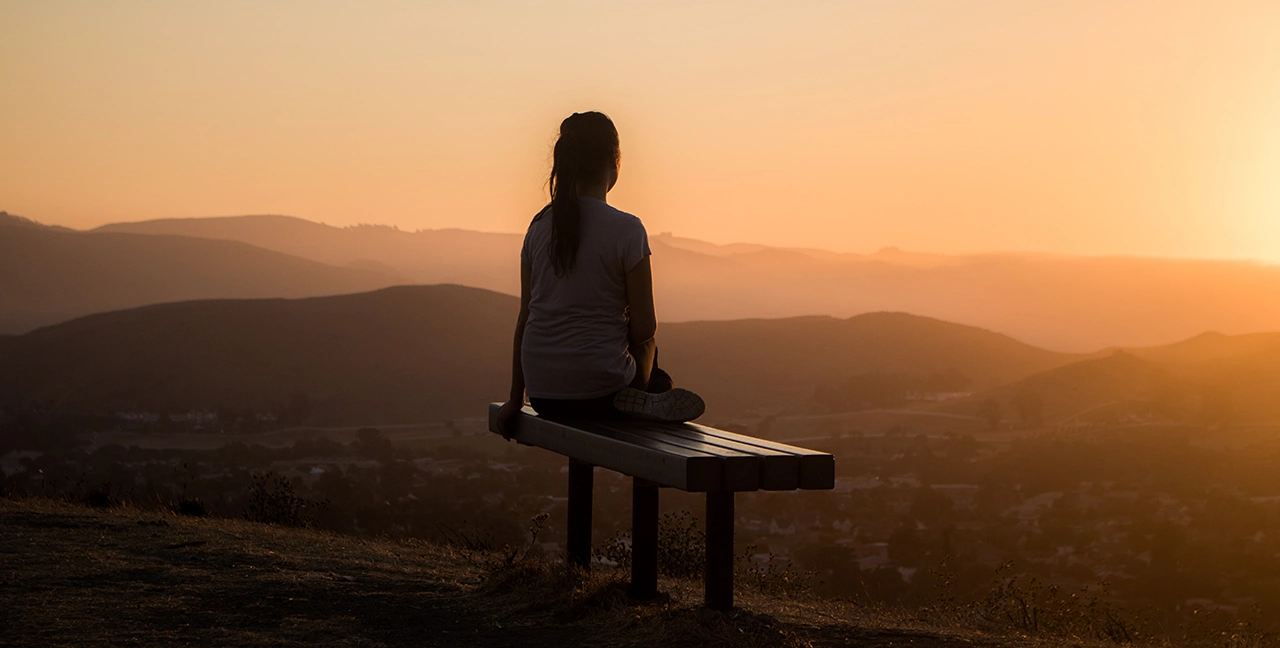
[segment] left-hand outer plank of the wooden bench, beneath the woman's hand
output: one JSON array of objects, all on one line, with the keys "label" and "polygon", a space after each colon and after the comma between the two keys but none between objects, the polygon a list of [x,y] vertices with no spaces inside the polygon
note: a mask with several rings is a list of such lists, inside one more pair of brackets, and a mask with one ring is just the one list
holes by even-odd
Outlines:
[{"label": "left-hand outer plank of the wooden bench, beneath the woman's hand", "polygon": [[[497,432],[495,415],[502,403],[489,406],[489,429]],[[652,439],[620,439],[609,433],[588,432],[538,416],[524,409],[512,437],[526,446],[577,458],[600,467],[681,490],[705,492],[723,484],[719,457]]]}]

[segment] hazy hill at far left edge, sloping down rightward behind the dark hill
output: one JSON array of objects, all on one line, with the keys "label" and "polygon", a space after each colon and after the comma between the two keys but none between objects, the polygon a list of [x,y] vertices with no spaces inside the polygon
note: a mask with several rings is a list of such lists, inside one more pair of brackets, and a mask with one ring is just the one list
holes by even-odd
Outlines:
[{"label": "hazy hill at far left edge, sloping down rightward behind the dark hill", "polygon": [[0,333],[146,304],[335,295],[404,282],[233,241],[76,232],[0,218]]}]

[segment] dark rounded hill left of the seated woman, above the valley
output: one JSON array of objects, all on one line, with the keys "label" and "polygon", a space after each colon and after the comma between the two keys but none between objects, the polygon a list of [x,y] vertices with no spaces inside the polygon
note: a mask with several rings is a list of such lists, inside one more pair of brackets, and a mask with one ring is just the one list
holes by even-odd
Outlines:
[{"label": "dark rounded hill left of the seated woman, above the valley", "polygon": [[507,391],[513,297],[460,286],[104,312],[19,337],[0,392],[74,407],[230,407],[320,421],[475,416]]}]

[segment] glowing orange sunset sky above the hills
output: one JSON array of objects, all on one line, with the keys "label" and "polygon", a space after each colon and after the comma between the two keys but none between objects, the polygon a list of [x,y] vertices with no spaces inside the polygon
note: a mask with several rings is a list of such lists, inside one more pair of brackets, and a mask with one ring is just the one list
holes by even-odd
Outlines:
[{"label": "glowing orange sunset sky above the hills", "polygon": [[1280,1],[0,0],[0,210],[1280,261]]}]

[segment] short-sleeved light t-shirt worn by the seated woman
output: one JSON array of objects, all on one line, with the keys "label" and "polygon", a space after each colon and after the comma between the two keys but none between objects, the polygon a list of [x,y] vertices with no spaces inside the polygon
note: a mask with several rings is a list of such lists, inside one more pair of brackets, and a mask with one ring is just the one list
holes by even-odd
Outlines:
[{"label": "short-sleeved light t-shirt worn by the seated woman", "polygon": [[521,263],[530,268],[529,320],[521,343],[530,398],[595,398],[631,384],[626,274],[649,256],[640,219],[596,198],[582,209],[573,271],[556,277],[550,209],[529,224]]}]

